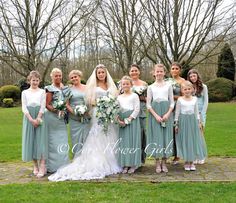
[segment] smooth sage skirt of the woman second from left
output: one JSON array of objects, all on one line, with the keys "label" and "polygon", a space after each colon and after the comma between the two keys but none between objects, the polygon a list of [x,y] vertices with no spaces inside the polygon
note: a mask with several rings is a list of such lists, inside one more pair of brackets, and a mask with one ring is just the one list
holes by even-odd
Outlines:
[{"label": "smooth sage skirt of the woman second from left", "polygon": [[48,134],[48,172],[55,172],[59,167],[69,163],[69,144],[67,127],[63,119],[57,114],[45,112]]}]

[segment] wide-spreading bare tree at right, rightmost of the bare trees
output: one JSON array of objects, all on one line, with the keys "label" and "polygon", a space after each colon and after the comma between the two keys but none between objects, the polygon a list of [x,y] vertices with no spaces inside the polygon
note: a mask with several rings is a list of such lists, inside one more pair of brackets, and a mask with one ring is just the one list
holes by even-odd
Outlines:
[{"label": "wide-spreading bare tree at right, rightmost of the bare trees", "polygon": [[162,62],[167,68],[172,61],[185,61],[186,66],[201,63],[221,41],[193,64],[200,50],[219,37],[224,38],[236,22],[233,3],[226,0],[140,2],[147,16],[140,29],[145,53],[153,63]]}]

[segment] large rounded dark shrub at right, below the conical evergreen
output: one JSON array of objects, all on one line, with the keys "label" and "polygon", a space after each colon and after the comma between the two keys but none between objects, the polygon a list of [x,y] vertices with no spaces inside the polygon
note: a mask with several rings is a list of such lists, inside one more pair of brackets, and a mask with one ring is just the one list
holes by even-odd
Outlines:
[{"label": "large rounded dark shrub at right, below the conical evergreen", "polygon": [[233,98],[234,83],[226,78],[216,78],[209,80],[208,86],[209,101],[224,102]]}]

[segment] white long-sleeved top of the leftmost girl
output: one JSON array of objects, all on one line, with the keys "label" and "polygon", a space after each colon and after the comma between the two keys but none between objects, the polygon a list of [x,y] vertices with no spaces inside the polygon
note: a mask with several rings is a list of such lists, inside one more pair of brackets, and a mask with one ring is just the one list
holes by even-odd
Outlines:
[{"label": "white long-sleeved top of the leftmost girl", "polygon": [[39,112],[44,113],[46,106],[46,93],[43,89],[27,89],[21,93],[22,112],[29,113],[27,106],[40,106]]}]

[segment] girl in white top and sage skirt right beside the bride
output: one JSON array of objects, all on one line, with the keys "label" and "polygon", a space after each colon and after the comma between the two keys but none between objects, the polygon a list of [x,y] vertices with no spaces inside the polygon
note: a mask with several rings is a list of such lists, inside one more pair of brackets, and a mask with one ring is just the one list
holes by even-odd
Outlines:
[{"label": "girl in white top and sage skirt right beside the bride", "polygon": [[140,101],[138,95],[131,91],[131,87],[132,79],[124,76],[121,79],[124,93],[117,98],[120,106],[118,162],[123,167],[122,173],[134,173],[141,166],[141,127],[138,117]]}]

